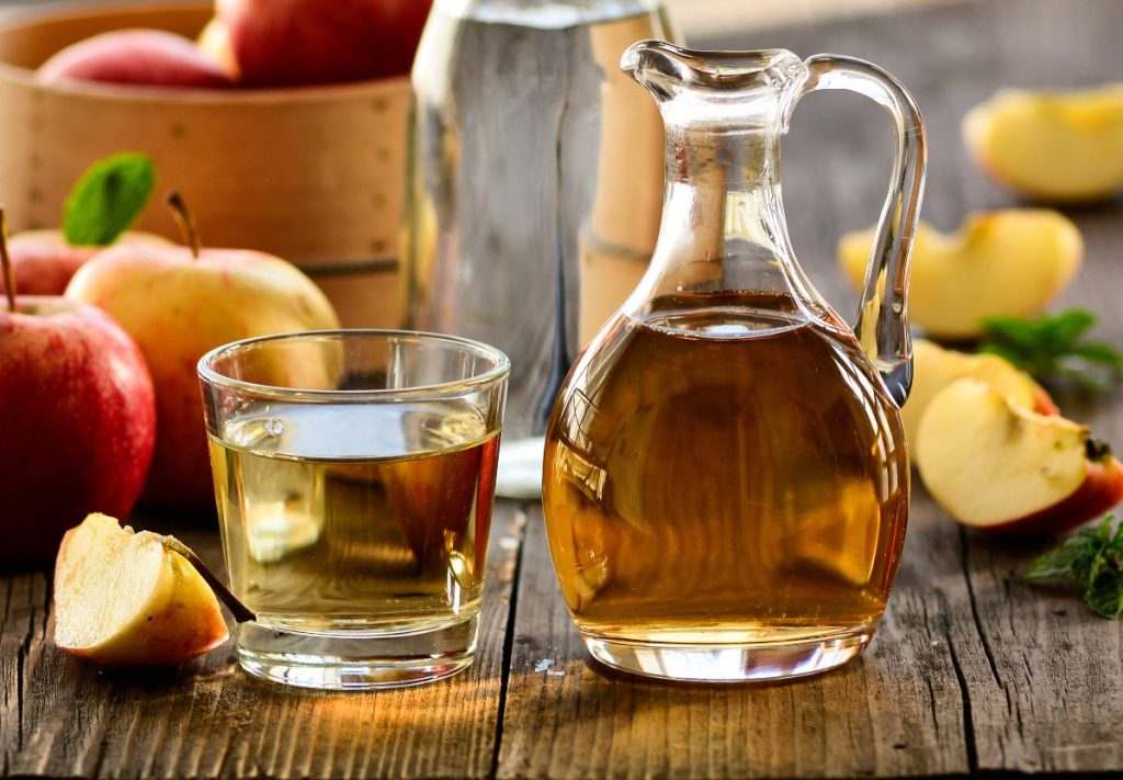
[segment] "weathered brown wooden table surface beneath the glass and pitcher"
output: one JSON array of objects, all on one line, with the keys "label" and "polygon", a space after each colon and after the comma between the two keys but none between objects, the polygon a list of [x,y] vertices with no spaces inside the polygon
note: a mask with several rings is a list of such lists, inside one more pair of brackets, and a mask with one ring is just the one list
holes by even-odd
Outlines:
[{"label": "weathered brown wooden table surface beneath the glass and pitcher", "polygon": [[[962,152],[965,110],[1003,85],[1123,78],[1123,2],[1005,0],[730,35],[716,45],[868,57],[916,94],[931,138],[925,217],[953,227],[1012,198]],[[852,310],[833,245],[871,224],[888,124],[813,96],[785,142],[796,250]],[[1060,301],[1123,345],[1123,209],[1071,211],[1085,269]],[[1061,398],[1123,446],[1119,392]],[[967,533],[916,487],[904,563],[871,649],[841,671],[772,686],[687,686],[594,664],[554,580],[540,509],[496,513],[478,662],[453,680],[369,695],[248,678],[228,650],[176,672],[102,674],[51,642],[47,573],[0,579],[0,771],[65,776],[842,777],[1123,768],[1120,624],[1019,581],[1038,547]],[[0,498],[2,500],[2,498]],[[219,561],[214,534],[188,542]]]}]

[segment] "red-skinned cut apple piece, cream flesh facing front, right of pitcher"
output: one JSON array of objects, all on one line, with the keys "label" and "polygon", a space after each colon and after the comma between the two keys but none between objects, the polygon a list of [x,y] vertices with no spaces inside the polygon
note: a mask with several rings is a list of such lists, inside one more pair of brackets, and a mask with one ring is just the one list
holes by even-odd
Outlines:
[{"label": "red-skinned cut apple piece, cream flesh facing front, right of pitcher", "polygon": [[1085,426],[1019,408],[976,379],[935,394],[917,439],[924,486],[973,528],[1056,534],[1123,499],[1123,466]]}]

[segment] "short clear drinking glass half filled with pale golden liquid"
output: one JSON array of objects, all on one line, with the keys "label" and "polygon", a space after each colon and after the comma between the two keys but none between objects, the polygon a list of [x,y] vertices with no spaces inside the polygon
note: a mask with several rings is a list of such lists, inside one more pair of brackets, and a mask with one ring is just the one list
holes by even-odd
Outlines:
[{"label": "short clear drinking glass half filled with pale golden liquid", "polygon": [[453,336],[252,338],[199,363],[237,631],[257,677],[438,680],[472,663],[510,364]]}]

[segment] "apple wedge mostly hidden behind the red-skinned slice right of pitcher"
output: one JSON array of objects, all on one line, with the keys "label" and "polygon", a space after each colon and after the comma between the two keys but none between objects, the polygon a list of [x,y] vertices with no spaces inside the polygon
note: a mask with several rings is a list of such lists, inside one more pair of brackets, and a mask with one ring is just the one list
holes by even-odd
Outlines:
[{"label": "apple wedge mostly hidden behind the red-skinned slice right of pitcher", "polygon": [[943,388],[965,377],[989,384],[1020,409],[1030,409],[1039,415],[1058,414],[1057,405],[1044,388],[998,355],[971,355],[944,350],[928,339],[919,338],[913,342],[912,390],[901,409],[905,438],[913,457],[916,456],[919,445],[917,428],[928,405]]}]

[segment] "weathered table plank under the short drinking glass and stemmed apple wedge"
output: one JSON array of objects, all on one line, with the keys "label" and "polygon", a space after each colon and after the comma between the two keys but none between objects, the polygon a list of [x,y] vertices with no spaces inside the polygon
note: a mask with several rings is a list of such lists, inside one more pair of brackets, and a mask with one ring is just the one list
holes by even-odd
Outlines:
[{"label": "weathered table plank under the short drinking glass and stemmed apple wedge", "polygon": [[[3,772],[485,777],[523,521],[513,505],[496,506],[476,663],[446,682],[377,693],[290,690],[240,672],[228,650],[172,672],[99,673],[51,644],[43,574],[0,578]],[[185,541],[221,569],[213,533]]]}]

